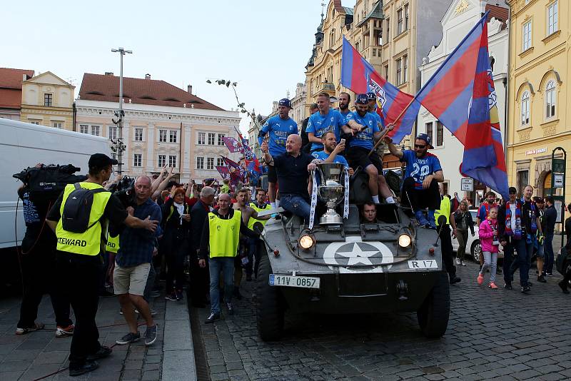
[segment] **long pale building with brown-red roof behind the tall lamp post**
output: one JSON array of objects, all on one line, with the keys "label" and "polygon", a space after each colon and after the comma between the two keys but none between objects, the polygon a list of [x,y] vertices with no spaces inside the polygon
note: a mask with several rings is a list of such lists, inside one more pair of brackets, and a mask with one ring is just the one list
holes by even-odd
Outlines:
[{"label": "long pale building with brown-red roof behind the tall lamp post", "polygon": [[[116,139],[119,78],[85,73],[76,100],[77,131]],[[175,167],[178,180],[219,178],[229,156],[225,136],[236,137],[237,111],[226,111],[188,91],[146,78],[123,78],[123,172],[129,176]],[[236,154],[231,155],[236,160]]]}]

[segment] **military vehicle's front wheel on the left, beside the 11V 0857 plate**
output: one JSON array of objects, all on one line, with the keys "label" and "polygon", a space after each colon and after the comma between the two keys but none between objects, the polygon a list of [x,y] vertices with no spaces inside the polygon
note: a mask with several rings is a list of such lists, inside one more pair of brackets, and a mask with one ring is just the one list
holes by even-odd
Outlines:
[{"label": "military vehicle's front wheel on the left, beside the 11V 0857 plate", "polygon": [[268,283],[272,267],[266,248],[258,245],[258,250],[262,250],[258,277],[256,278],[258,333],[264,341],[278,340],[283,332],[283,315],[285,313],[283,296],[279,288]]}]

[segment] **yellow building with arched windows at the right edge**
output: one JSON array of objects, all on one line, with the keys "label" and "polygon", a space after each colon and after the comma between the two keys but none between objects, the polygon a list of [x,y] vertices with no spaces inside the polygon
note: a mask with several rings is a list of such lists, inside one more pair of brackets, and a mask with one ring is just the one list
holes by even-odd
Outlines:
[{"label": "yellow building with arched windows at the right edge", "polygon": [[[562,147],[571,153],[567,114],[571,10],[563,0],[507,3],[511,7],[507,177],[519,191],[532,184],[537,195],[548,195],[553,149]],[[569,172],[565,183],[566,194],[571,195]]]}]

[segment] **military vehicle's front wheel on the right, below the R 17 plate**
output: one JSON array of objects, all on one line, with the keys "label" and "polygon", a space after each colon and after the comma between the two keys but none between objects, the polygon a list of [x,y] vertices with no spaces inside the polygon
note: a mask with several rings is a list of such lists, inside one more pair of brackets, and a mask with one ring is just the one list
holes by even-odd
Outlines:
[{"label": "military vehicle's front wheel on the right, below the R 17 plate", "polygon": [[416,313],[420,330],[426,337],[444,335],[450,315],[450,284],[448,274],[440,273],[438,281]]}]

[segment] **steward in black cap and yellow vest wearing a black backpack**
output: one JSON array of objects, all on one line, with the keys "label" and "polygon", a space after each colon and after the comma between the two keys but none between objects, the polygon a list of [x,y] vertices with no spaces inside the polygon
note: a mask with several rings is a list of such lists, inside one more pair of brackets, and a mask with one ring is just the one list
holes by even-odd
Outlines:
[{"label": "steward in black cap and yellow vest wearing a black backpack", "polygon": [[[66,283],[71,307],[76,315],[74,337],[69,355],[69,375],[78,376],[98,367],[95,361],[107,357],[111,349],[98,342],[95,322],[101,256],[105,253],[104,234],[108,221],[124,223],[130,228],[154,232],[158,221],[141,220],[128,215],[121,201],[103,189],[117,161],[103,153],[89,158],[86,181],[66,186],[46,216],[46,223],[56,232],[59,277]],[[89,191],[86,191],[89,190]],[[101,191],[102,190],[102,191]],[[81,206],[77,201],[81,201]],[[76,208],[71,208],[75,205]],[[83,231],[81,231],[83,230]]]}]

